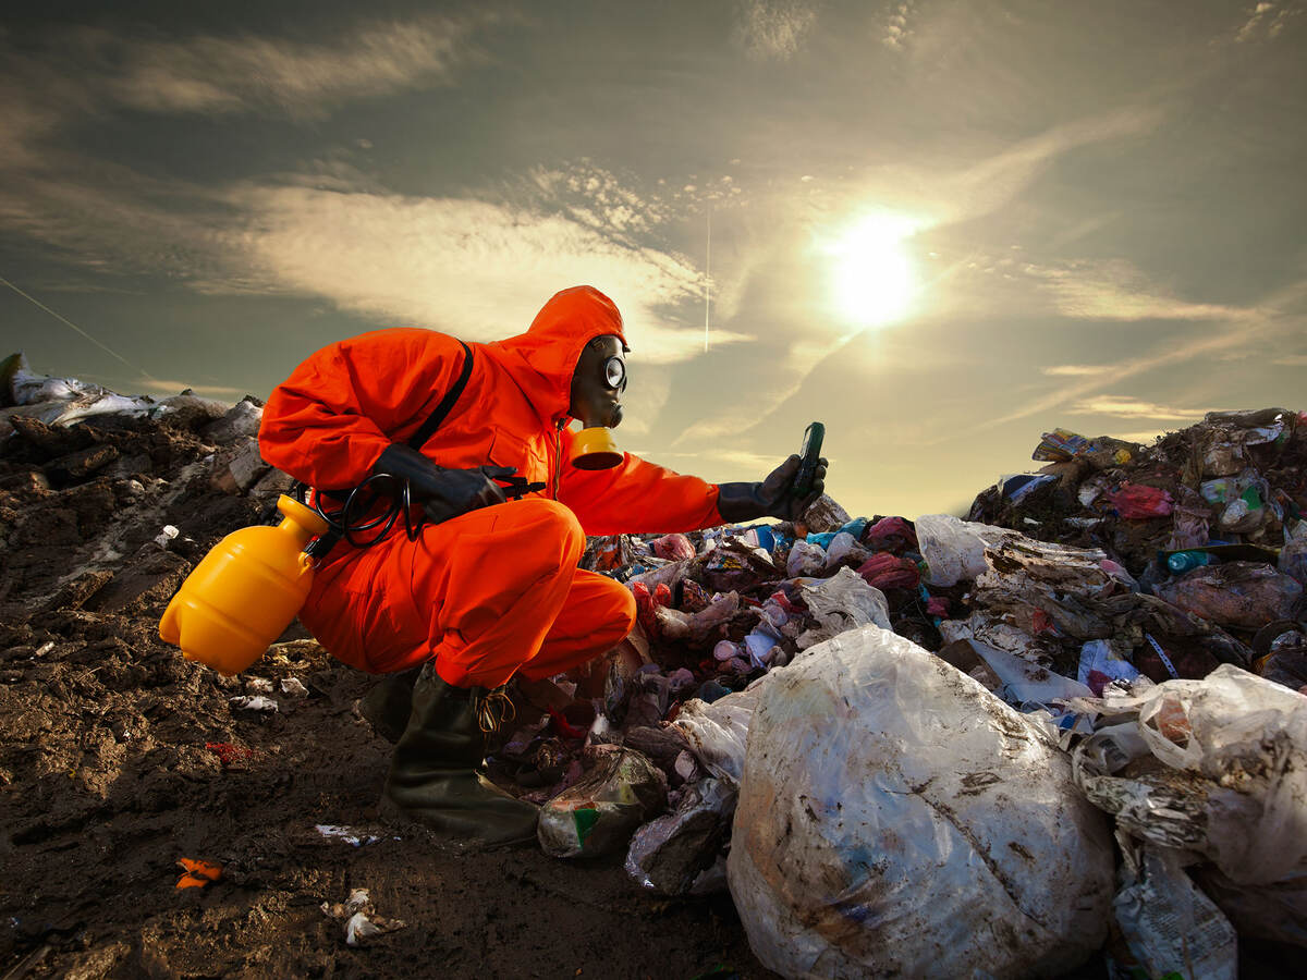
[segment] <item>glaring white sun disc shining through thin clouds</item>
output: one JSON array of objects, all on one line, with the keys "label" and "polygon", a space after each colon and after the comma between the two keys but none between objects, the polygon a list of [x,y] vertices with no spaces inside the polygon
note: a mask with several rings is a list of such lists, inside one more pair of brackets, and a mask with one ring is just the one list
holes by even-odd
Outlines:
[{"label": "glaring white sun disc shining through thin clouds", "polygon": [[831,247],[835,306],[861,327],[882,327],[907,314],[916,293],[904,239],[912,222],[872,214],[853,225]]}]

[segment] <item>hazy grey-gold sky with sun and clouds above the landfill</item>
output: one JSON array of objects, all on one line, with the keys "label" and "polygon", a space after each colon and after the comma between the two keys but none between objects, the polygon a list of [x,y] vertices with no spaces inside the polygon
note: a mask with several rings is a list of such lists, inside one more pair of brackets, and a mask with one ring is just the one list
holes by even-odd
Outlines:
[{"label": "hazy grey-gold sky with sun and clouds above the landfill", "polygon": [[248,7],[5,5],[0,357],[265,399],[589,284],[622,448],[761,480],[821,421],[868,516],[1307,409],[1307,0]]}]

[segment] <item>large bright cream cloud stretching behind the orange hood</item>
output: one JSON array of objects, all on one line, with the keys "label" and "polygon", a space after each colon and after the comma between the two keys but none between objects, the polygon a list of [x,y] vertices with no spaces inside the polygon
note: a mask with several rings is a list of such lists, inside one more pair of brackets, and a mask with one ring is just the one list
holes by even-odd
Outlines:
[{"label": "large bright cream cloud stretching behind the orange hood", "polygon": [[[589,282],[622,310],[638,361],[673,363],[702,350],[702,332],[676,315],[698,302],[698,269],[561,214],[306,187],[251,187],[233,203],[250,218],[227,244],[248,267],[234,284],[208,284],[213,291],[318,295],[392,323],[491,340],[524,329],[558,289]],[[718,329],[712,340],[746,337]]]}]

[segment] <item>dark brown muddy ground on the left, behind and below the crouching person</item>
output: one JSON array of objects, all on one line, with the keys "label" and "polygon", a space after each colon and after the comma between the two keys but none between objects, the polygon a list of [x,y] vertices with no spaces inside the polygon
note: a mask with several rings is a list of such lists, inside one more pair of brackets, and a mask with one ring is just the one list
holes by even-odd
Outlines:
[{"label": "dark brown muddy ground on the left, behind and below the crouching person", "polygon": [[[239,678],[159,640],[193,564],[289,482],[251,463],[243,405],[0,409],[0,976],[771,976],[729,898],[651,902],[621,855],[397,839],[370,681],[298,626]],[[231,704],[260,679],[276,712]],[[178,889],[180,858],[221,878]],[[404,928],[346,945],[322,906],[354,889]]]}]

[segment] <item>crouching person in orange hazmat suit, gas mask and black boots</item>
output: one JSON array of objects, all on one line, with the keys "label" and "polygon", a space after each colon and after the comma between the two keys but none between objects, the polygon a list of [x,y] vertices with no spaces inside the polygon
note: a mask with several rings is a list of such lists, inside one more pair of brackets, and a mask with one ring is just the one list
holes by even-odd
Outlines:
[{"label": "crouching person in orange hazmat suit, gas mask and black boots", "polygon": [[[613,302],[578,286],[493,344],[417,328],[332,344],[269,396],[268,463],[316,493],[389,477],[426,517],[412,540],[332,546],[299,613],[346,664],[392,677],[421,665],[410,691],[391,685],[383,699],[399,710],[388,815],[463,843],[533,839],[537,809],[478,768],[510,678],[563,673],[631,630],[631,592],[578,568],[586,534],[793,519],[822,493],[825,460],[795,497],[797,456],[755,483],[714,485],[631,453],[609,469],[570,465],[572,419],[621,422],[627,350]],[[414,448],[437,406],[446,414]],[[510,500],[514,476],[529,493]]]}]

